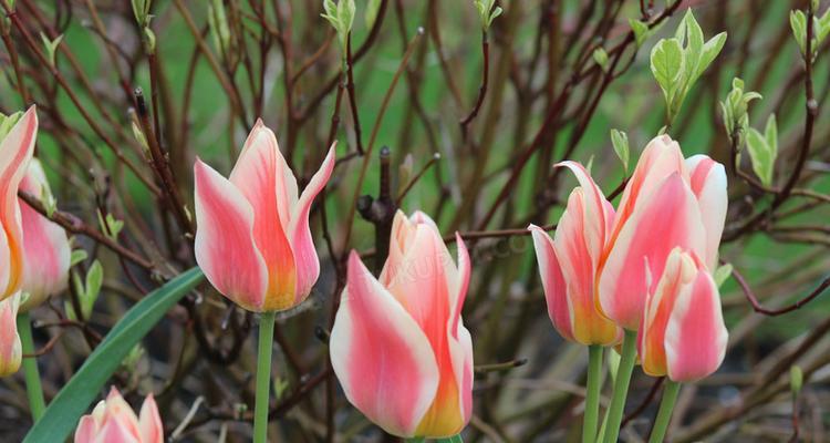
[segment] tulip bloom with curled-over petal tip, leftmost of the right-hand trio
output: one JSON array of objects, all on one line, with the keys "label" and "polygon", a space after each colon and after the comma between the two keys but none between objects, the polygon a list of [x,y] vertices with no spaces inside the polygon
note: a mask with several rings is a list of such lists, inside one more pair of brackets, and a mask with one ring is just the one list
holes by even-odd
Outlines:
[{"label": "tulip bloom with curled-over petal tip, leftmost of the right-hand trio", "polygon": [[574,162],[570,168],[580,183],[568,197],[553,239],[530,225],[539,260],[548,315],[567,340],[591,346],[619,342],[620,328],[602,317],[594,301],[596,270],[614,220],[614,208],[602,195],[585,168]]}]

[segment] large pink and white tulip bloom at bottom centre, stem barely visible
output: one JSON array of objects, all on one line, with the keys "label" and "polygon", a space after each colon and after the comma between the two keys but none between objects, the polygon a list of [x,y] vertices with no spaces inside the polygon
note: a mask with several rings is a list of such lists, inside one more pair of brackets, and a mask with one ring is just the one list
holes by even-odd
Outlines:
[{"label": "large pink and white tulip bloom at bottom centre, stem barely visible", "polygon": [[456,239],[457,266],[428,216],[398,212],[380,278],[349,257],[332,367],[349,401],[394,435],[452,436],[470,418],[473,343],[460,318],[470,264]]}]

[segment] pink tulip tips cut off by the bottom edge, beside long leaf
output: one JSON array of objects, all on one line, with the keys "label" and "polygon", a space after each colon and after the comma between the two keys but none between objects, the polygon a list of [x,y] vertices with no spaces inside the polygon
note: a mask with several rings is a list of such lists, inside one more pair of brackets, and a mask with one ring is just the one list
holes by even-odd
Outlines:
[{"label": "pink tulip tips cut off by the bottom edge, beside long leaf", "polygon": [[75,443],[164,443],[164,426],[153,394],[144,399],[136,416],[118,390],[112,388],[92,414],[81,418]]}]

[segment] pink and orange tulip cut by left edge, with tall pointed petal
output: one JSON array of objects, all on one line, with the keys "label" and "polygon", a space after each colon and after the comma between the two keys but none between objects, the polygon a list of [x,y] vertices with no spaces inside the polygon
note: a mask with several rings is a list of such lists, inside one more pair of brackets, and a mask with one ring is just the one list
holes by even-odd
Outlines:
[{"label": "pink and orange tulip cut by left edge, with tall pointed petal", "polygon": [[25,175],[38,136],[38,114],[32,105],[0,143],[0,300],[11,297],[23,282],[23,228],[18,187]]}]

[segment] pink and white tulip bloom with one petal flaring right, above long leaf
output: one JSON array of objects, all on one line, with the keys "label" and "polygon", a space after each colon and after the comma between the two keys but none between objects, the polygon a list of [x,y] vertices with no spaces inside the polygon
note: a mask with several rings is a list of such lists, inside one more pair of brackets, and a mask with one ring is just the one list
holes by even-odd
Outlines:
[{"label": "pink and white tulip bloom with one petal flaring right, above long leaf", "polygon": [[279,311],[309,296],[320,261],[311,203],[334,169],[334,146],[302,194],[277,137],[257,121],[229,178],[196,161],[196,261],[242,308]]}]

